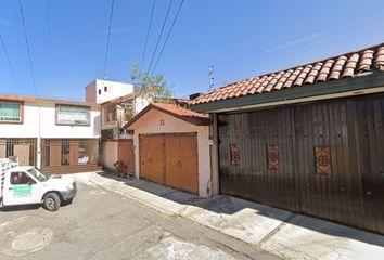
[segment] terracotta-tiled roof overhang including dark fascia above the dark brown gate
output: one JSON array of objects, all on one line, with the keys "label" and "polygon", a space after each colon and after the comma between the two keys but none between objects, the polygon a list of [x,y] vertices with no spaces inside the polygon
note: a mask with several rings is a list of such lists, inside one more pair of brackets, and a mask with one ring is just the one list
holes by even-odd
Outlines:
[{"label": "terracotta-tiled roof overhang including dark fascia above the dark brown gate", "polygon": [[[235,107],[234,104],[249,106],[334,94],[353,90],[348,84],[359,89],[360,86],[356,86],[355,82],[363,83],[363,88],[383,86],[384,81],[379,84],[374,81],[381,77],[381,74],[384,74],[384,43],[232,82],[199,96],[191,102],[191,105],[192,109],[200,112],[229,110]],[[370,82],[371,79],[374,82]],[[333,86],[334,89],[330,88]],[[323,89],[319,90],[320,88]],[[249,104],[249,101],[253,103]]]}]

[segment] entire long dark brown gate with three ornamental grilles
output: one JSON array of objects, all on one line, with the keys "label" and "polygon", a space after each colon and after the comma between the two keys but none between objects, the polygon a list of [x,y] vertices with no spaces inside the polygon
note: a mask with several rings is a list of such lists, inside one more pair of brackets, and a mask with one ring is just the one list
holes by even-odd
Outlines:
[{"label": "entire long dark brown gate with three ornamental grilles", "polygon": [[223,194],[384,233],[384,98],[218,117]]}]

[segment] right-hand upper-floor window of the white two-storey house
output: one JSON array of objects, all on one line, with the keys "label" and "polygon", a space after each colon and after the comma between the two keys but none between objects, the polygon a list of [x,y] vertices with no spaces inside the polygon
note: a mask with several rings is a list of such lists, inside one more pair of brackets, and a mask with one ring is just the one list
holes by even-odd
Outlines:
[{"label": "right-hand upper-floor window of the white two-storey house", "polygon": [[56,123],[89,126],[90,108],[86,106],[56,105]]}]

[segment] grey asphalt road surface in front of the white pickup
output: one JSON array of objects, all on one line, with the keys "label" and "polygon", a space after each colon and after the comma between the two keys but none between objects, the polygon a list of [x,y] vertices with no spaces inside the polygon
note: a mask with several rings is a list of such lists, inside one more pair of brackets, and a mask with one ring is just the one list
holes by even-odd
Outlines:
[{"label": "grey asphalt road surface in front of the white pickup", "polygon": [[78,183],[72,205],[0,211],[0,259],[276,259],[189,220]]}]

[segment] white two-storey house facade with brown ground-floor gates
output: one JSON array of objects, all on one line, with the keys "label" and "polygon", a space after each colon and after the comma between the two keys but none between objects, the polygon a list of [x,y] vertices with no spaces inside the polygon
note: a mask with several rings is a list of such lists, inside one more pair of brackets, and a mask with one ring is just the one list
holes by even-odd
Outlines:
[{"label": "white two-storey house facade with brown ground-floor gates", "polygon": [[0,157],[52,172],[93,170],[100,135],[95,103],[0,95]]}]

